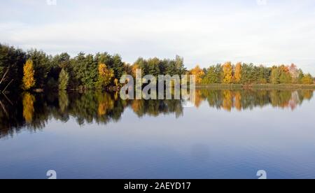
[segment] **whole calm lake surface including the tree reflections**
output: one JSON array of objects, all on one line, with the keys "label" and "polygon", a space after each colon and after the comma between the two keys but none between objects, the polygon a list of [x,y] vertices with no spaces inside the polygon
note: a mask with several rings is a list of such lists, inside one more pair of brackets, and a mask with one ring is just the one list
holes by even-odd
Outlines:
[{"label": "whole calm lake surface including the tree reflections", "polygon": [[315,178],[313,90],[0,96],[0,178]]}]

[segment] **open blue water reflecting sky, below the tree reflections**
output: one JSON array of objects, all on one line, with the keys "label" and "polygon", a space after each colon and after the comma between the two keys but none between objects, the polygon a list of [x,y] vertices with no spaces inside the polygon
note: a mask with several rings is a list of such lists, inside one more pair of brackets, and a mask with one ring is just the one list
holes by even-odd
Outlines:
[{"label": "open blue water reflecting sky, below the tree reflections", "polygon": [[[36,110],[36,108],[35,108]],[[294,110],[197,107],[78,124],[50,116],[0,138],[0,178],[315,178],[315,100]]]}]

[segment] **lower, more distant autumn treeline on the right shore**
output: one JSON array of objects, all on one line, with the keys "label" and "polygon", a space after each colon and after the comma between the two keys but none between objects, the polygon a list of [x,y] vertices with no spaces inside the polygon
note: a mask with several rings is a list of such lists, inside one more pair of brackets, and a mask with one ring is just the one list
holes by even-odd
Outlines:
[{"label": "lower, more distant autumn treeline on the right shore", "polygon": [[290,66],[254,66],[253,64],[217,64],[209,69],[200,69],[196,66],[190,71],[196,76],[197,84],[304,84],[311,85],[314,78],[311,74],[303,73],[302,69],[297,69],[295,64]]}]

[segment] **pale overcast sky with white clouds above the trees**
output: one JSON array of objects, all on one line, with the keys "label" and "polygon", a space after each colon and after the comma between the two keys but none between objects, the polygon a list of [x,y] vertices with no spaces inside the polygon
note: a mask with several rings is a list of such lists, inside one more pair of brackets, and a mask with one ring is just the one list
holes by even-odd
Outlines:
[{"label": "pale overcast sky with white clouds above the trees", "polygon": [[[53,0],[51,0],[53,1]],[[295,63],[315,75],[314,0],[0,0],[0,43],[49,54]]]}]

